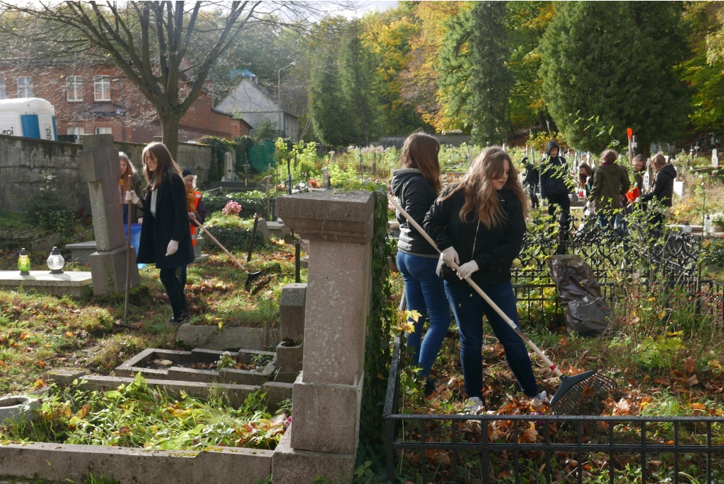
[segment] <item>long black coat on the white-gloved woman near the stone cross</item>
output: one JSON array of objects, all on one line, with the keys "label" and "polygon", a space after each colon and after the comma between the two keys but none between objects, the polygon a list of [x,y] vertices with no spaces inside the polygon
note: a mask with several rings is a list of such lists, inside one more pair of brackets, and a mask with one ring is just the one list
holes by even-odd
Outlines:
[{"label": "long black coat on the white-gloved woman near the stone cross", "polygon": [[[151,214],[151,189],[143,198],[143,225],[140,229],[138,263],[156,263],[156,268],[172,269],[193,262],[191,231],[188,225],[186,189],[178,174],[169,172],[156,189],[156,216]],[[176,240],[179,249],[166,256],[169,242]]]}]

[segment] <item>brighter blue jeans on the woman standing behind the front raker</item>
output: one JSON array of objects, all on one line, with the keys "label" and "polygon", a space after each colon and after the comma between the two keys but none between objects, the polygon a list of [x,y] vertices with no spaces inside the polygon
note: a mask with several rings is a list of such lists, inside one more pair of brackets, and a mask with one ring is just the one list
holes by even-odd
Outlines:
[{"label": "brighter blue jeans on the woman standing behind the front raker", "polygon": [[[397,252],[397,268],[405,281],[408,310],[421,314],[414,325],[415,331],[407,335],[407,341],[413,365],[422,367],[424,377],[430,374],[447,328],[450,328],[450,305],[445,298],[443,281],[435,274],[435,267],[437,258],[405,254],[401,250]],[[422,326],[426,319],[429,319],[429,326],[422,339]]]}]

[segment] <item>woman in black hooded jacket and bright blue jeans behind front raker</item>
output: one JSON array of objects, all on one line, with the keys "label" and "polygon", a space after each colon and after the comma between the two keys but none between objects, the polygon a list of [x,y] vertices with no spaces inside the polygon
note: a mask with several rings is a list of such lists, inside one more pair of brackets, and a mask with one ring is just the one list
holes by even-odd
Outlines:
[{"label": "woman in black hooded jacket and bright blue jeans behind front raker", "polygon": [[[400,165],[405,168],[392,171],[392,193],[418,224],[423,223],[425,214],[442,190],[437,159],[439,149],[440,143],[434,137],[413,133],[405,140],[400,156]],[[429,375],[447,328],[450,328],[450,306],[442,279],[435,274],[437,250],[400,213],[397,213],[397,221],[400,222],[397,268],[405,281],[408,309],[421,315],[414,323],[415,331],[408,334],[408,349],[411,350],[413,365],[422,368],[426,392],[432,393],[436,382]],[[429,327],[422,339],[425,320],[429,320]]]}]

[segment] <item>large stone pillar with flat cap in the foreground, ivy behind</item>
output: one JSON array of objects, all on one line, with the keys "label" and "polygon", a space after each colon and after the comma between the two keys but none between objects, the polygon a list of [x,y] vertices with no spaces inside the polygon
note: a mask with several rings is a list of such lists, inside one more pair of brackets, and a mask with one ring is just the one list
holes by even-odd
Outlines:
[{"label": "large stone pillar with flat cap in the foreground, ivy behind", "polygon": [[277,215],[309,239],[303,371],[293,425],[274,453],[274,483],[317,475],[350,483],[359,436],[371,290],[374,194],[331,190],[277,198]]}]

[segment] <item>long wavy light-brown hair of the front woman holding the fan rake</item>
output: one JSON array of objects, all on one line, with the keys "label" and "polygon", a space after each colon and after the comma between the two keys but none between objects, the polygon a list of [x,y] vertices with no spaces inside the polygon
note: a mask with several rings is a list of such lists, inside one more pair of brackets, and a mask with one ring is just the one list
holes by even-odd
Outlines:
[{"label": "long wavy light-brown hair of the front woman holding the fan rake", "polygon": [[518,200],[521,200],[523,218],[525,218],[528,213],[526,195],[521,182],[518,181],[518,171],[513,165],[513,160],[500,146],[491,146],[475,158],[463,181],[442,199],[450,198],[460,190],[465,193],[465,205],[460,209],[460,220],[467,222],[468,214],[474,212],[488,228],[498,224],[502,225],[505,214],[492,182],[505,174],[505,161],[508,161],[510,171],[508,181],[505,182],[503,188],[507,188],[518,197]]}]

